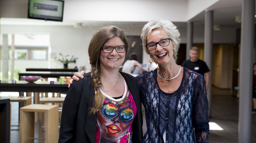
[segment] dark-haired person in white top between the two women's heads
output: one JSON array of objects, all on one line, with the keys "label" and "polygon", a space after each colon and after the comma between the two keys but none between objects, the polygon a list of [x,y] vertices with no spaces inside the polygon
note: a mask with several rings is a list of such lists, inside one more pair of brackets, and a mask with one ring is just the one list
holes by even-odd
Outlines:
[{"label": "dark-haired person in white top between the two women's heads", "polygon": [[129,60],[125,61],[122,68],[122,72],[129,73],[129,74],[140,74],[146,71],[137,60],[138,60],[137,54],[132,53],[130,55]]}]

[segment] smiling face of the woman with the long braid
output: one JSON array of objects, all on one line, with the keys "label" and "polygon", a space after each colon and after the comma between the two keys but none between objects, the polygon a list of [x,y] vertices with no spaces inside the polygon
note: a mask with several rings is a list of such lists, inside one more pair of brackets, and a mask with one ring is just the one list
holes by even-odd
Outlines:
[{"label": "smiling face of the woman with the long braid", "polygon": [[[124,42],[119,37],[113,37],[108,40],[104,46],[124,46]],[[100,51],[100,67],[105,69],[119,69],[119,66],[123,64],[125,58],[125,52],[117,53],[116,49],[113,49],[111,53],[104,53]]]}]

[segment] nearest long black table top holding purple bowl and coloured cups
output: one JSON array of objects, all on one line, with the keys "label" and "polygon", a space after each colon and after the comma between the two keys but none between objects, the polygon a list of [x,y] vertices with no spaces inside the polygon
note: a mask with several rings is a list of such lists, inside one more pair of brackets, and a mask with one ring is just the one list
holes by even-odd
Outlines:
[{"label": "nearest long black table top holding purple bowl and coloured cups", "polygon": [[11,92],[60,92],[67,93],[68,85],[60,84],[60,82],[54,82],[50,84],[49,81],[36,81],[35,83],[28,83],[27,81],[16,81],[13,84],[12,81],[1,81],[0,91]]}]

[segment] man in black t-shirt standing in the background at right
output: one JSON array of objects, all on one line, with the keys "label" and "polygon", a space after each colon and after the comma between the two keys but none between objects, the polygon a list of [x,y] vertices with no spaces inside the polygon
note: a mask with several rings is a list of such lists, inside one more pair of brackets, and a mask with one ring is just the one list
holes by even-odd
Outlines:
[{"label": "man in black t-shirt standing in the background at right", "polygon": [[204,61],[198,59],[198,48],[192,47],[189,51],[190,59],[182,63],[181,66],[188,68],[194,72],[200,73],[204,76],[206,91],[208,89],[210,80],[210,70]]}]

